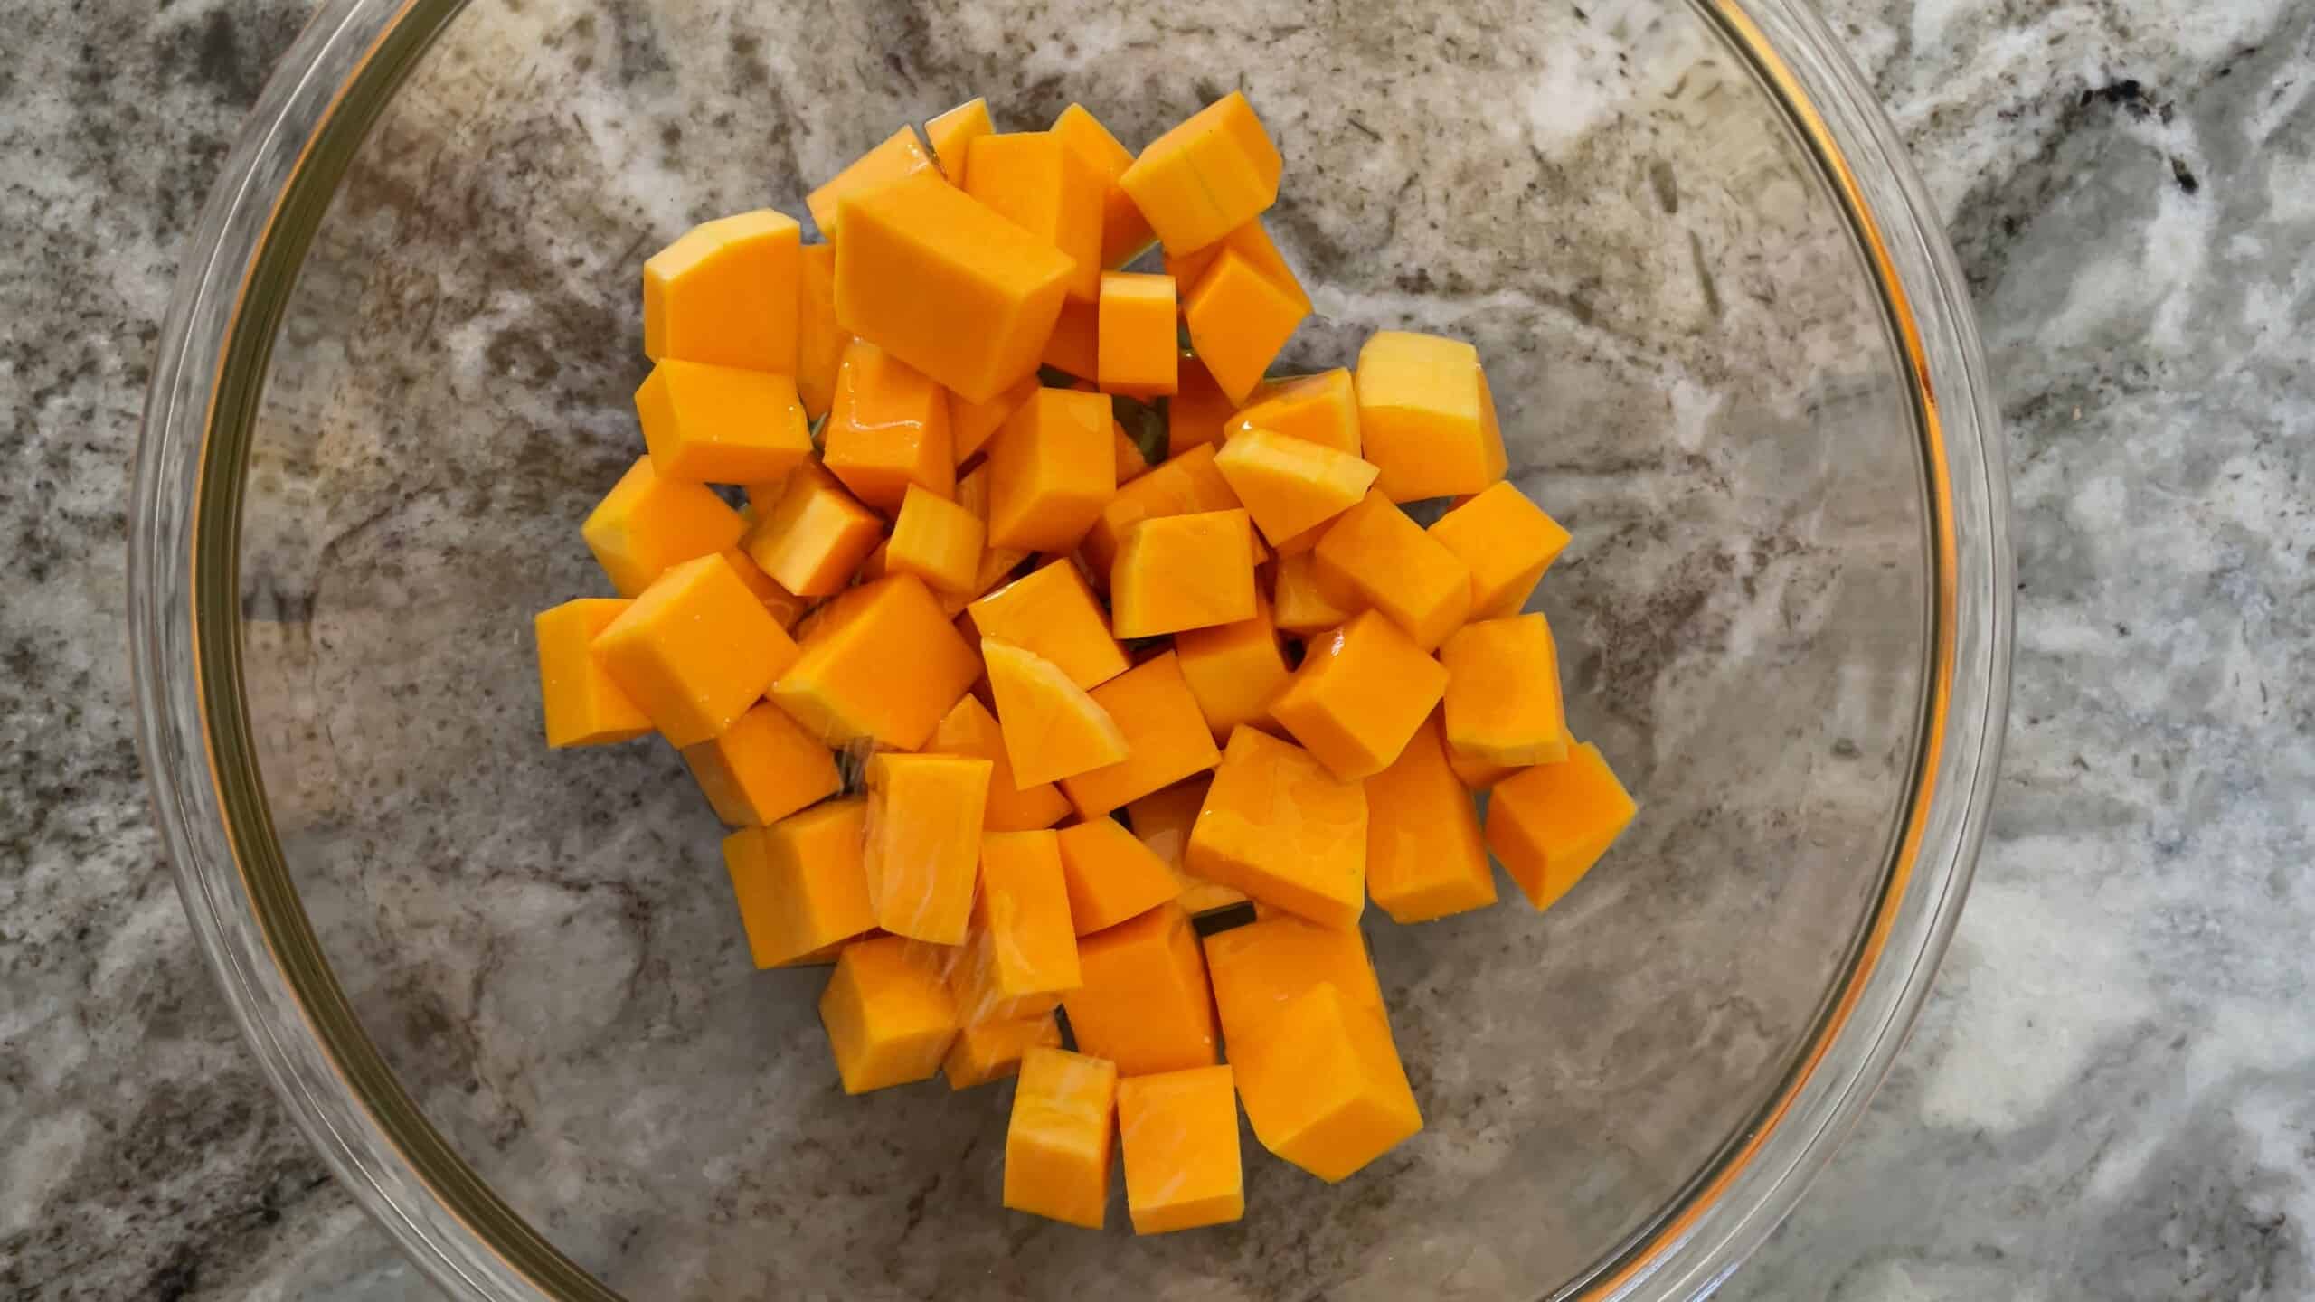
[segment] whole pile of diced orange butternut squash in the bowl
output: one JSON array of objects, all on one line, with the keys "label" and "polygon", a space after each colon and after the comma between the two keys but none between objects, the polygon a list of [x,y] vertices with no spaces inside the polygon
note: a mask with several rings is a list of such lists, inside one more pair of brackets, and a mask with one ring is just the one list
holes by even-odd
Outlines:
[{"label": "whole pile of diced orange butternut squash in the bowl", "polygon": [[1074,104],[924,139],[817,243],[644,264],[620,595],[537,616],[546,741],[681,748],[755,964],[833,964],[845,1091],[1019,1075],[1007,1207],[1102,1226],[1120,1147],[1137,1232],[1234,1221],[1241,1105],[1326,1182],[1421,1128],[1366,901],[1491,906],[1493,853],[1546,908],[1634,815],[1521,614],[1567,533],[1468,343],[1269,378],[1313,301],[1243,95],[1139,155]]}]

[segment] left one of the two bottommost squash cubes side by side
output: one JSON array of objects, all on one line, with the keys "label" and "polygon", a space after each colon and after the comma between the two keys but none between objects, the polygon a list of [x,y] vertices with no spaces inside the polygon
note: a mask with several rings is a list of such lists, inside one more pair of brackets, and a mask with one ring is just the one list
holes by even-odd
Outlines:
[{"label": "left one of the two bottommost squash cubes side by side", "polygon": [[1109,1214],[1116,1112],[1116,1063],[1065,1049],[1026,1049],[1005,1126],[1005,1205],[1100,1230]]}]

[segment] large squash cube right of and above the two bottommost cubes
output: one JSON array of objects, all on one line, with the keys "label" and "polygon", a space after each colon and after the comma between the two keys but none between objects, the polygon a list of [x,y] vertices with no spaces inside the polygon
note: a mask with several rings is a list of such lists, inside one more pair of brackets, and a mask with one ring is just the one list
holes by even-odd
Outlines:
[{"label": "large squash cube right of and above the two bottommost cubes", "polygon": [[1424,1128],[1389,1022],[1331,982],[1229,1052],[1262,1147],[1329,1184]]}]

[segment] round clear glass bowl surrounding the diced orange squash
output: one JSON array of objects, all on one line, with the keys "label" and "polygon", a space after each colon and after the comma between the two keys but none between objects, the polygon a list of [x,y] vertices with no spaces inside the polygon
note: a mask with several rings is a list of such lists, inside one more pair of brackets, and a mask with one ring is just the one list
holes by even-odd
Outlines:
[{"label": "round clear glass bowl surrounding the diced orange squash", "polygon": [[[838,1093],[657,744],[549,753],[530,614],[639,449],[637,264],[901,120],[1243,86],[1317,315],[1489,364],[1641,799],[1551,913],[1368,936],[1426,1128],[1241,1223],[998,1207],[1009,1087]],[[1963,280],[1796,0],[326,0],[192,239],[139,449],[144,758],[315,1147],[456,1297],[1683,1297],[1799,1198],[1961,908],[2009,674]]]}]

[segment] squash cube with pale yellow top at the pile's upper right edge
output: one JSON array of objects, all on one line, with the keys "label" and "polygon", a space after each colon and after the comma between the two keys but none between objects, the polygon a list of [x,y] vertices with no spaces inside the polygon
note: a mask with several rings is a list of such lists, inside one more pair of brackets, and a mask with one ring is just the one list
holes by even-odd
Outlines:
[{"label": "squash cube with pale yellow top at the pile's upper right edge", "polygon": [[1394,503],[1477,493],[1502,480],[1502,429],[1479,350],[1435,334],[1375,331],[1359,350],[1361,456]]}]

